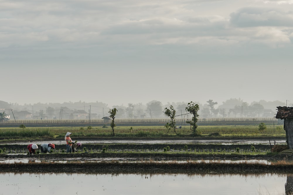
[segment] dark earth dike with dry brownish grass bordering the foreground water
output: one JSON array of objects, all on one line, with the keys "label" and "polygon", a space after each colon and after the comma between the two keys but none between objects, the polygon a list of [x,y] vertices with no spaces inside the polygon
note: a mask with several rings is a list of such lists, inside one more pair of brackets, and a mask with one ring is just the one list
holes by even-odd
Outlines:
[{"label": "dark earth dike with dry brownish grass bordering the foreground water", "polygon": [[235,174],[257,174],[257,173],[288,173],[292,172],[293,163],[286,161],[271,163],[205,163],[205,162],[159,162],[159,161],[140,161],[140,162],[29,162],[0,164],[0,172],[17,173],[96,173],[96,174],[118,174],[118,173],[235,173]]}]

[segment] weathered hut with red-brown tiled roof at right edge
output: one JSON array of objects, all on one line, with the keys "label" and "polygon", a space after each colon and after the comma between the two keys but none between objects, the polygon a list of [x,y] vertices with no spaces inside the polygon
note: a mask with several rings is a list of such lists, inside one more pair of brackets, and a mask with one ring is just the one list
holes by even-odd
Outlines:
[{"label": "weathered hut with red-brown tiled roof at right edge", "polygon": [[288,149],[293,149],[293,107],[278,106],[275,118],[284,119]]}]

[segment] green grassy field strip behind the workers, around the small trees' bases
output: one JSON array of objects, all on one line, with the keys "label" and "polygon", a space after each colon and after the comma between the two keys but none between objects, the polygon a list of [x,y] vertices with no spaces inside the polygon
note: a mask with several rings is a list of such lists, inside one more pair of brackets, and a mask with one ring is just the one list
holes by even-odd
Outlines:
[{"label": "green grassy field strip behind the workers, around the small trees' bases", "polygon": [[[220,138],[229,137],[286,137],[284,130],[277,130],[277,126],[268,125],[267,130],[260,132],[257,125],[237,126],[199,126],[202,132],[199,137],[209,137],[212,133],[219,133]],[[169,132],[163,126],[136,126],[115,127],[115,137],[111,135],[111,128],[103,127],[0,127],[0,139],[7,141],[15,140],[38,140],[38,139],[61,139],[66,132],[72,132],[75,138],[194,138],[189,126],[176,130],[177,134]],[[1,142],[0,142],[1,143]]]}]

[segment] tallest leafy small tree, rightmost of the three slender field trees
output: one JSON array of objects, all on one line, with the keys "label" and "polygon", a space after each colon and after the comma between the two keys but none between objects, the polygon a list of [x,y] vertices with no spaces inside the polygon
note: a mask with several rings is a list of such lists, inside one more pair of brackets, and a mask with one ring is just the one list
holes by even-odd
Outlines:
[{"label": "tallest leafy small tree, rightmost of the three slender field trees", "polygon": [[185,108],[185,110],[189,113],[191,113],[193,115],[191,120],[186,121],[187,123],[190,124],[190,130],[193,133],[193,136],[199,136],[201,135],[201,131],[197,130],[197,117],[199,116],[197,114],[197,111],[200,109],[200,107],[198,106],[198,104],[193,103],[192,101],[190,103],[187,104],[187,107]]}]

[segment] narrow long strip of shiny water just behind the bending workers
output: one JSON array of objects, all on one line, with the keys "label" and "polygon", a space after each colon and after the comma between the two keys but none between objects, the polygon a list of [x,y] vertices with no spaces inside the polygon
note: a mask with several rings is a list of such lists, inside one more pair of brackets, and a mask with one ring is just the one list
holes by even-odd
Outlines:
[{"label": "narrow long strip of shiny water just behind the bending workers", "polygon": [[[74,138],[73,138],[74,140]],[[54,144],[64,144],[64,140],[50,141]],[[82,140],[83,144],[270,144],[269,140]],[[48,141],[38,141],[36,144],[44,144]],[[285,144],[286,140],[271,140],[271,144]],[[30,142],[17,142],[9,144],[31,144]],[[0,144],[1,145],[1,144]]]}]

